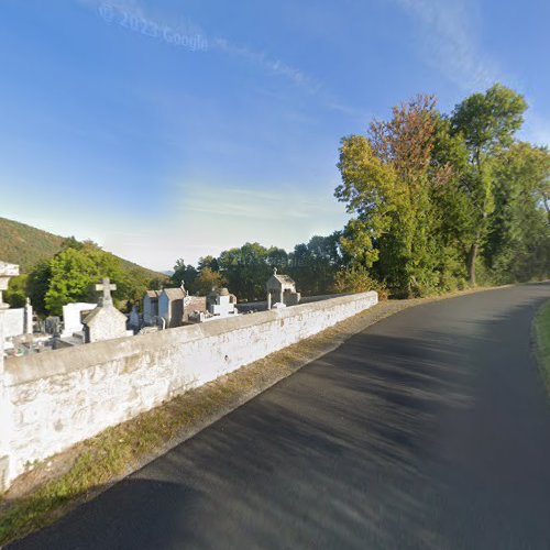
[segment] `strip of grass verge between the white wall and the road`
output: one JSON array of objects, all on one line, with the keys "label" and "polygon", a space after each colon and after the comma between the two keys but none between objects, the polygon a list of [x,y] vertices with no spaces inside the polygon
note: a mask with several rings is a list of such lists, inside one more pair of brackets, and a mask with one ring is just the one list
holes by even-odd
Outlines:
[{"label": "strip of grass verge between the white wall and the road", "polygon": [[[418,304],[487,289],[381,302],[36,464],[0,499],[0,547],[54,522],[381,319]],[[550,307],[547,322],[550,329]],[[546,333],[550,358],[550,330]]]}]

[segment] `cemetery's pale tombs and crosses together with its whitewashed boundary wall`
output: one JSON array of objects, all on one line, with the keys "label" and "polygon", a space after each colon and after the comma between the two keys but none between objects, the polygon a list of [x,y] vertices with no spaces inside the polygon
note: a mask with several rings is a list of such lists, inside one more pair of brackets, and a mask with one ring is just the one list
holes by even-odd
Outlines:
[{"label": "cemetery's pale tombs and crosses together with its whitewashed boundary wall", "polygon": [[[0,285],[6,288],[16,273],[16,266],[1,263]],[[314,336],[377,302],[377,294],[370,292],[297,304],[299,298],[292,283],[288,279],[282,283],[277,288],[275,284],[273,288],[270,286],[279,293],[277,299],[283,297],[283,301],[275,304],[286,306],[286,298],[289,306],[295,304],[292,307],[239,315],[237,297],[222,288],[210,293],[205,301],[190,301],[191,307],[206,304],[202,321],[216,322],[184,324],[182,309],[172,307],[167,311],[176,315],[182,326],[133,336],[134,331],[127,328],[127,316],[112,304],[114,285],[103,279],[96,286],[100,294],[98,305],[73,304],[64,310],[62,340],[75,338],[82,343],[84,339],[84,345],[6,359],[0,354],[0,422],[6,428],[0,438],[0,487],[7,488],[34,461]],[[179,293],[164,294],[166,298],[180,299]],[[158,307],[162,295],[157,295]],[[0,342],[3,342],[1,334],[9,309],[6,305],[0,307]],[[175,324],[172,316],[164,319],[167,326]]]}]

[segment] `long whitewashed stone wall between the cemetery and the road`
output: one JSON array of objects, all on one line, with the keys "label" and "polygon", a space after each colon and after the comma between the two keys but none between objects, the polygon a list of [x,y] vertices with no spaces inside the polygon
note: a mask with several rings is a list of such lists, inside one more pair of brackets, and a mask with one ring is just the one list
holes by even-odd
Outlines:
[{"label": "long whitewashed stone wall between the cemetery and the road", "polygon": [[377,302],[376,293],[220,319],[163,332],[10,358],[9,481],[190,388],[316,334]]}]

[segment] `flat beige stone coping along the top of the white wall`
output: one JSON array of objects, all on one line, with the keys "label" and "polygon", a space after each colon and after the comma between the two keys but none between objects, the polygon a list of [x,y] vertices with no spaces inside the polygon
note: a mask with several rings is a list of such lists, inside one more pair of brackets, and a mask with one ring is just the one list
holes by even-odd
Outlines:
[{"label": "flat beige stone coping along the top of the white wall", "polygon": [[[340,305],[367,298],[376,298],[375,292],[343,295],[336,298],[299,304],[282,309],[272,309],[257,314],[219,319],[211,322],[178,327],[161,332],[123,337],[102,342],[92,342],[75,348],[36,353],[21,358],[9,358],[4,363],[4,385],[16,386],[41,378],[85,370],[99,364],[106,364],[132,355],[140,355],[148,351],[168,349],[182,343],[193,342],[205,338],[218,337],[253,326],[261,326],[276,319],[288,319],[308,311],[331,309]],[[280,330],[284,330],[282,327]]]}]

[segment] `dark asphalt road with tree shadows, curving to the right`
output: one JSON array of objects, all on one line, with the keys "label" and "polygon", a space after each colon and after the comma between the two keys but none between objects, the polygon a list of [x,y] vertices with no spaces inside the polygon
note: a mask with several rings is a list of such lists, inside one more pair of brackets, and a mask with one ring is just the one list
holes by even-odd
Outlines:
[{"label": "dark asphalt road with tree shadows, curving to the right", "polygon": [[550,549],[550,285],[395,315],[20,549]]}]

